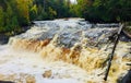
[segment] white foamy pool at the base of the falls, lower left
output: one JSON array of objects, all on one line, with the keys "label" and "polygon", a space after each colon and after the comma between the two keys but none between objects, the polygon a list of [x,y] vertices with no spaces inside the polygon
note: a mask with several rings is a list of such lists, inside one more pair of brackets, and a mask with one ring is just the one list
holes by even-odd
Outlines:
[{"label": "white foamy pool at the base of the falls, lower left", "polygon": [[[45,71],[51,70],[49,78]],[[27,76],[33,83],[85,83],[87,73],[81,68],[63,61],[44,60],[40,55],[15,51],[10,46],[0,46],[0,80],[26,83]]]}]

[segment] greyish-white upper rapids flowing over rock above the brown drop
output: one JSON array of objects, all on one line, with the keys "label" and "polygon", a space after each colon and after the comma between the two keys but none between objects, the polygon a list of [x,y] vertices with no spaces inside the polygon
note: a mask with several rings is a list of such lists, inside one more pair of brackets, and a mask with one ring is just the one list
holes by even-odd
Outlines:
[{"label": "greyish-white upper rapids flowing over rock above the brown drop", "polygon": [[57,34],[57,44],[70,48],[75,43],[81,43],[83,38],[88,38],[88,42],[93,44],[106,43],[108,37],[118,29],[118,27],[110,27],[111,25],[109,24],[103,26],[103,28],[97,26],[91,28],[93,24],[83,19],[35,21],[34,23],[34,27],[26,33],[15,36],[15,38],[44,40],[47,38],[52,39]]}]

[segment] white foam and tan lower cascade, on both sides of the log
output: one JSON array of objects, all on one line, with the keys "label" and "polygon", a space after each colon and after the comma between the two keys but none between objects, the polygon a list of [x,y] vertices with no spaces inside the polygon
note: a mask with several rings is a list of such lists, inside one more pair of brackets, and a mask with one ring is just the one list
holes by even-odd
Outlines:
[{"label": "white foam and tan lower cascade, on both sides of the log", "polygon": [[[126,43],[120,43],[117,55],[112,60],[112,67],[108,83],[127,73],[129,69],[126,63],[130,58],[123,57],[130,48]],[[0,78],[26,83],[29,75],[34,83],[104,83],[106,67],[102,63],[106,60],[109,51],[84,48],[80,54],[62,51],[52,44],[47,45],[40,52],[27,52],[26,50],[14,50],[11,46],[0,46]],[[75,57],[76,56],[76,57]],[[46,71],[51,71],[49,78],[44,78]],[[13,75],[13,78],[11,78]]]}]

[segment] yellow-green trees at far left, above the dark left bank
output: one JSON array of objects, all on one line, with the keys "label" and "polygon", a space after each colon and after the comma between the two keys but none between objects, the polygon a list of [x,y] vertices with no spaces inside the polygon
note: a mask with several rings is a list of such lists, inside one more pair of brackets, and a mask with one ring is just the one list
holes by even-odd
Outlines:
[{"label": "yellow-green trees at far left, above the dark left bank", "polygon": [[[0,0],[0,32],[12,32],[29,23],[32,0]],[[3,11],[4,10],[4,11]]]}]

